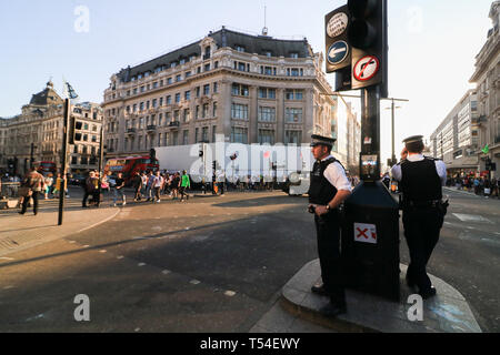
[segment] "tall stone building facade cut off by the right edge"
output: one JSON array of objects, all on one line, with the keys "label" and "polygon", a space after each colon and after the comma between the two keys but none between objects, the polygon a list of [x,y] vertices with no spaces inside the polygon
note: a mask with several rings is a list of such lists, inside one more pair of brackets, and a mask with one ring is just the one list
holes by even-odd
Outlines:
[{"label": "tall stone building facade cut off by the right edge", "polygon": [[[470,82],[477,84],[479,145],[489,146],[489,153],[478,152],[480,170],[486,170],[487,159],[500,169],[500,1],[493,1],[489,17],[493,28],[476,57],[476,71]],[[492,176],[500,176],[493,172]]]}]

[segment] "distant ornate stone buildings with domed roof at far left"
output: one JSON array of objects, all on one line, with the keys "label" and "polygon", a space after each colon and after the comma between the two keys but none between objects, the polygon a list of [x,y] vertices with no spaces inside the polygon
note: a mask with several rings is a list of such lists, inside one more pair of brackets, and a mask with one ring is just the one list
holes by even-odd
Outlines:
[{"label": "distant ornate stone buildings with domed roof at far left", "polygon": [[[0,120],[0,169],[24,174],[33,162],[53,162],[61,166],[63,100],[48,82],[43,91],[33,94],[22,113]],[[71,104],[77,119],[80,141],[69,146],[69,172],[80,173],[98,168],[102,110],[96,103]]]}]

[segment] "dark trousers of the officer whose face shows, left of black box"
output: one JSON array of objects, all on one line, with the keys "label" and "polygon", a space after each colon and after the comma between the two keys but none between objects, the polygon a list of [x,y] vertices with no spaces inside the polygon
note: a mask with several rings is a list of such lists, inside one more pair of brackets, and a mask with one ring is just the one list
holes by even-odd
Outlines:
[{"label": "dark trousers of the officer whose face shows, left of black box", "polygon": [[314,215],[318,237],[318,254],[321,267],[321,278],[331,301],[339,305],[346,304],[346,291],[342,282],[342,265],[340,260],[340,221],[337,211],[319,217]]}]

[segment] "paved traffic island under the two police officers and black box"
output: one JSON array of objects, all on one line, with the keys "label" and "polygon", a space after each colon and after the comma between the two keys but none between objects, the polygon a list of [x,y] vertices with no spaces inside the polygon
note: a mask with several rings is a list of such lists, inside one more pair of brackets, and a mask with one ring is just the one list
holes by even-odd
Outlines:
[{"label": "paved traffic island under the two police officers and black box", "polygon": [[[423,301],[423,321],[408,318],[407,303],[413,293],[404,283],[407,266],[400,265],[401,301],[347,290],[348,313],[328,318],[319,313],[329,300],[312,294],[311,286],[320,281],[319,260],[306,264],[282,290],[281,305],[276,305],[250,332],[346,333],[482,333],[463,296],[444,281],[429,275],[438,295]],[[288,313],[288,314],[287,314]],[[298,323],[300,321],[300,323]],[[307,325],[309,324],[309,325]]]}]

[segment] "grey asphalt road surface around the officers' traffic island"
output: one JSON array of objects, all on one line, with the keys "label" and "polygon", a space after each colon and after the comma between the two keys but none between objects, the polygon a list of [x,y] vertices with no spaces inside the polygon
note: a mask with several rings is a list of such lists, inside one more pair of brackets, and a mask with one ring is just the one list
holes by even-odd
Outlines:
[{"label": "grey asphalt road surface around the officers' traffic island", "polygon": [[[499,332],[500,202],[449,194],[429,271]],[[0,331],[248,332],[317,257],[306,205],[281,193],[128,204],[96,229],[0,260]],[[77,294],[90,297],[90,323],[73,320]]]}]

